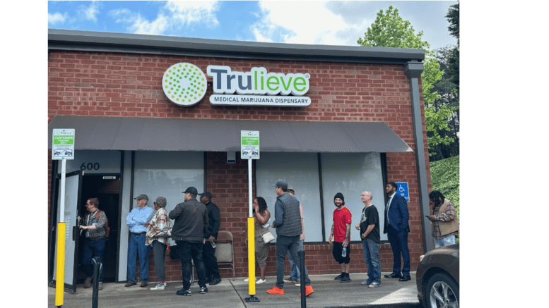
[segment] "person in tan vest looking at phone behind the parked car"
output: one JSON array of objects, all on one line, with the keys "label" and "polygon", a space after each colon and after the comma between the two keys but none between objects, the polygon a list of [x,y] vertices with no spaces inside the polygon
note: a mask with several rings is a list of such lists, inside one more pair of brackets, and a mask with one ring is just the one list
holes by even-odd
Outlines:
[{"label": "person in tan vest looking at phone behind the parked car", "polygon": [[435,248],[455,244],[459,231],[456,206],[438,190],[430,192],[429,205],[432,207],[432,215],[427,218],[432,222]]}]

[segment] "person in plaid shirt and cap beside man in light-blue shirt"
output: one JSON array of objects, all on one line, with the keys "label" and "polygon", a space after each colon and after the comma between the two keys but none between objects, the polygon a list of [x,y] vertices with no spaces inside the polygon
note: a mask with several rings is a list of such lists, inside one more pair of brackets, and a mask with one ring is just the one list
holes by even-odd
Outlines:
[{"label": "person in plaid shirt and cap beside man in light-blue shirt", "polygon": [[170,226],[166,204],[165,197],[156,198],[154,202],[155,216],[150,220],[150,223],[145,224],[147,227],[145,245],[153,247],[156,276],[158,276],[158,283],[153,288],[150,288],[150,290],[164,290],[166,288],[164,261],[169,240],[167,238],[167,228]]}]

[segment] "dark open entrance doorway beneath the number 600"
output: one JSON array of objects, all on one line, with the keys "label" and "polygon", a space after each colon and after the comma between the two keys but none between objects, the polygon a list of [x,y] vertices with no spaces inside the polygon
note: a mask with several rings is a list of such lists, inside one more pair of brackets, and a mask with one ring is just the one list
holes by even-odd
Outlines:
[{"label": "dark open entrance doorway beneath the number 600", "polygon": [[[103,282],[114,282],[117,270],[117,247],[118,247],[118,225],[119,225],[119,196],[120,196],[120,177],[119,175],[95,175],[85,174],[82,180],[82,202],[89,198],[97,197],[99,199],[99,209],[105,211],[109,220],[110,235],[105,241],[105,251],[103,252]],[[80,207],[78,215],[84,217],[86,209]],[[78,245],[78,256],[83,256],[83,241]],[[83,283],[86,276],[82,267],[82,257],[78,260],[78,283]]]}]

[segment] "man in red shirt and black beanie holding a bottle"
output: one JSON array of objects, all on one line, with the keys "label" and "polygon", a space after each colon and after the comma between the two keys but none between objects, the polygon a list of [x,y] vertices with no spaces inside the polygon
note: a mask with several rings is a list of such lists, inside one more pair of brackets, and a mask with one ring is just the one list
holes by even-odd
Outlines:
[{"label": "man in red shirt and black beanie holding a bottle", "polygon": [[[341,192],[338,192],[333,197],[333,204],[336,209],[333,210],[333,223],[331,225],[330,238],[328,242],[331,244],[333,238],[333,248],[331,253],[333,259],[341,264],[341,275],[336,276],[335,280],[342,283],[350,282],[349,277],[349,262],[350,262],[350,223],[352,222],[350,211],[345,207],[345,198]],[[345,257],[342,256],[343,248],[346,248]]]}]

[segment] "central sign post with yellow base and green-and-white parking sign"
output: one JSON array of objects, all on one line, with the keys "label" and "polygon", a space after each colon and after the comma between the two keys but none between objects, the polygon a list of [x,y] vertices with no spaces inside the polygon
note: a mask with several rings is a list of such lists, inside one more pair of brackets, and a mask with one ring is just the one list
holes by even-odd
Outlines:
[{"label": "central sign post with yellow base and green-and-white parking sign", "polygon": [[259,159],[259,131],[240,131],[240,158],[248,159],[248,294],[246,302],[259,302],[256,294],[255,228],[252,215],[252,159]]}]

